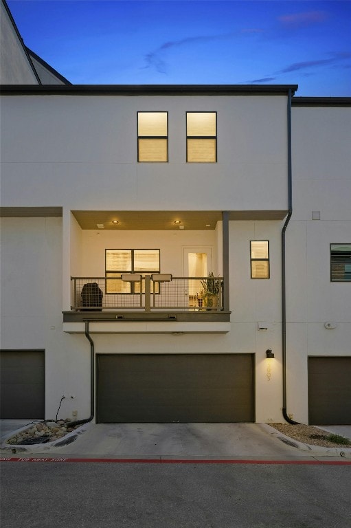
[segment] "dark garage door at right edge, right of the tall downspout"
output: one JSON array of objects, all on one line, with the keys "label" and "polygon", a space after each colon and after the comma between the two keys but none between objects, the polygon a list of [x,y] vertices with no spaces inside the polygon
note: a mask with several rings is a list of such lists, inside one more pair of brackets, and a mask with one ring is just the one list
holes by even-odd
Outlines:
[{"label": "dark garage door at right edge, right of the tall downspout", "polygon": [[308,358],[308,420],[351,423],[351,358]]}]

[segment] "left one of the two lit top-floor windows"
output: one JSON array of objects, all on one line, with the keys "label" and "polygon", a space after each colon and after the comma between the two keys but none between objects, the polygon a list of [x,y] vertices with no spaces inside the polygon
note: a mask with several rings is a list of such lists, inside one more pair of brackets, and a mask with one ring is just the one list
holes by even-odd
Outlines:
[{"label": "left one of the two lit top-floor windows", "polygon": [[168,112],[138,112],[138,162],[168,162]]}]

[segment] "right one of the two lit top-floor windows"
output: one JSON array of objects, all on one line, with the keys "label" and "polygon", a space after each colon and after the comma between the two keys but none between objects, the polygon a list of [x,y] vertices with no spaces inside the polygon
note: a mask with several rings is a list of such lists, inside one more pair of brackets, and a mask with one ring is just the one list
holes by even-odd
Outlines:
[{"label": "right one of the two lit top-floor windows", "polygon": [[186,113],[186,160],[188,163],[216,163],[216,112]]}]

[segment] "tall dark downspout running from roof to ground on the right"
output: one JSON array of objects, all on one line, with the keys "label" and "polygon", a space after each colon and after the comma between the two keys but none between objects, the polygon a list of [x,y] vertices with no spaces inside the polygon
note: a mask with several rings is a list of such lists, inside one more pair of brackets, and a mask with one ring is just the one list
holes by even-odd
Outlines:
[{"label": "tall dark downspout running from roof to ground on the right", "polygon": [[288,215],[282,228],[282,371],[283,371],[283,406],[282,413],[284,419],[292,425],[297,425],[298,421],[293,421],[286,412],[286,263],[285,263],[285,233],[288,223],[293,214],[293,172],[291,163],[291,88],[288,89],[287,126],[288,126]]}]

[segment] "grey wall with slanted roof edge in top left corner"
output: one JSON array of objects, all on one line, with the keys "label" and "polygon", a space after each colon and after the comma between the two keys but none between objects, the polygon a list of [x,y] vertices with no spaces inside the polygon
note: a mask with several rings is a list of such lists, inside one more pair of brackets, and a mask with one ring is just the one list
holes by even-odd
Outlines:
[{"label": "grey wall with slanted roof edge in top left corner", "polygon": [[40,84],[21,36],[3,1],[0,2],[0,34],[0,84]]}]

